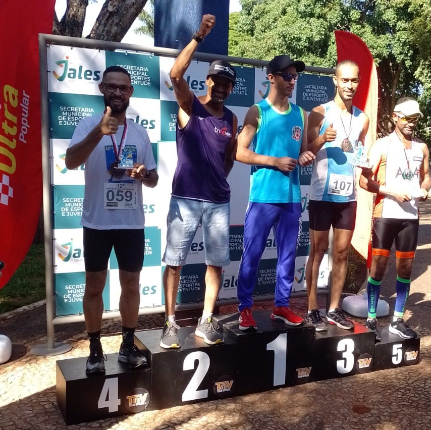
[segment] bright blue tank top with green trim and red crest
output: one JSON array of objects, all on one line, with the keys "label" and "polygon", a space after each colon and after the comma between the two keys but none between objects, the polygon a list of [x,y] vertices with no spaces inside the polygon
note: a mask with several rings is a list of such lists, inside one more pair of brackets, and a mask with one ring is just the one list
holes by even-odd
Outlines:
[{"label": "bright blue tank top with green trim and red crest", "polygon": [[[253,151],[274,157],[298,158],[304,133],[303,111],[289,102],[280,112],[267,99],[256,103],[259,120],[252,141]],[[249,200],[257,203],[300,203],[299,166],[292,172],[281,172],[267,166],[253,166]]]}]

